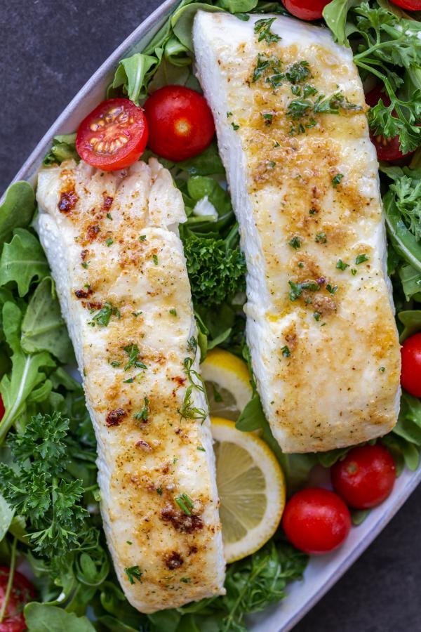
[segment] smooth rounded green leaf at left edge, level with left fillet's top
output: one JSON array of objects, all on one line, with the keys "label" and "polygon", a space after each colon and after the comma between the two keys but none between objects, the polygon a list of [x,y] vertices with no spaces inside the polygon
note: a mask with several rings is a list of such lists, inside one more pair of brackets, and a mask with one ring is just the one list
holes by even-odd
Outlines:
[{"label": "smooth rounded green leaf at left edge, level with left fillet's top", "polygon": [[21,180],[8,187],[0,205],[0,248],[12,237],[15,228],[29,225],[34,210],[34,189],[29,183]]}]

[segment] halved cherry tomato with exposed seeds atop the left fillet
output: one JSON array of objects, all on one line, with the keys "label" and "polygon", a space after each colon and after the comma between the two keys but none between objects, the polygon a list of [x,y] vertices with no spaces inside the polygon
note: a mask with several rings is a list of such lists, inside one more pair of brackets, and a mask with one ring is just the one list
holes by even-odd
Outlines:
[{"label": "halved cherry tomato with exposed seeds atop the left fillet", "polygon": [[85,162],[103,171],[125,169],[140,158],[147,136],[141,107],[128,99],[108,99],[79,125],[76,150]]}]

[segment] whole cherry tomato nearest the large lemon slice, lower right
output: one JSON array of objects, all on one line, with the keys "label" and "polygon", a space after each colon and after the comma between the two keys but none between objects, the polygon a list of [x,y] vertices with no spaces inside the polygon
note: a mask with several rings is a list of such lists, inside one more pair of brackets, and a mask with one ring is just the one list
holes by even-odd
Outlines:
[{"label": "whole cherry tomato nearest the large lemon slice, lower right", "polygon": [[342,544],[351,528],[351,515],[337,494],[308,487],[290,497],[282,518],[283,530],[294,546],[320,555]]}]

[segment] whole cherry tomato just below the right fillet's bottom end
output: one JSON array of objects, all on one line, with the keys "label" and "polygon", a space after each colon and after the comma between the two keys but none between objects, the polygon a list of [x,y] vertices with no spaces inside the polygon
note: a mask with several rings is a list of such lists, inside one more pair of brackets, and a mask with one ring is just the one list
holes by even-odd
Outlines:
[{"label": "whole cherry tomato just below the right fillet's bottom end", "polygon": [[369,509],[382,503],[392,492],[396,466],[382,445],[363,445],[350,450],[345,459],[330,468],[335,491],[347,505]]}]

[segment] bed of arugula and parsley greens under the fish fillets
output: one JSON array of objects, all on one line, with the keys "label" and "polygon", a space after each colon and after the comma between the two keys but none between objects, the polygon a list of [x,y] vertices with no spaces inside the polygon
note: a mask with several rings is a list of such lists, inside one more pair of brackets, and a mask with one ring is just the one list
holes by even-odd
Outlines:
[{"label": "bed of arugula and parsley greens under the fish fillets", "polygon": [[[229,11],[240,20],[247,20],[248,12],[288,15],[278,2],[182,0],[145,50],[120,62],[108,96],[123,94],[142,103],[149,91],[166,84],[199,90],[192,73],[192,21],[199,8]],[[409,166],[380,166],[387,263],[403,341],[421,329],[421,22],[387,0],[333,0],[323,17],[335,39],[352,47],[364,84],[374,79],[385,86],[390,105],[380,100],[368,113],[373,133],[399,135],[403,152],[415,151]],[[78,159],[74,139],[73,134],[56,136],[44,164]],[[180,236],[202,357],[219,345],[250,364],[241,309],[246,265],[218,148],[210,145],[177,164],[161,162],[171,169],[185,201],[188,219]],[[218,218],[195,213],[203,199]],[[281,532],[260,551],[229,565],[223,597],[151,615],[127,603],[102,533],[95,436],[83,390],[67,372],[74,363],[72,345],[31,227],[34,213],[32,187],[12,185],[0,207],[0,392],[5,406],[0,422],[0,564],[11,568],[11,577],[20,560],[32,568],[39,602],[25,607],[29,631],[246,630],[246,614],[283,599],[288,582],[305,570],[307,556]],[[307,480],[316,463],[330,467],[347,452],[282,454],[254,384],[236,426],[261,431],[283,466],[288,492]],[[380,441],[392,452],[399,473],[404,466],[418,467],[420,400],[403,393],[399,421]],[[363,517],[356,513],[354,522]],[[141,580],[139,567],[128,571]]]}]

